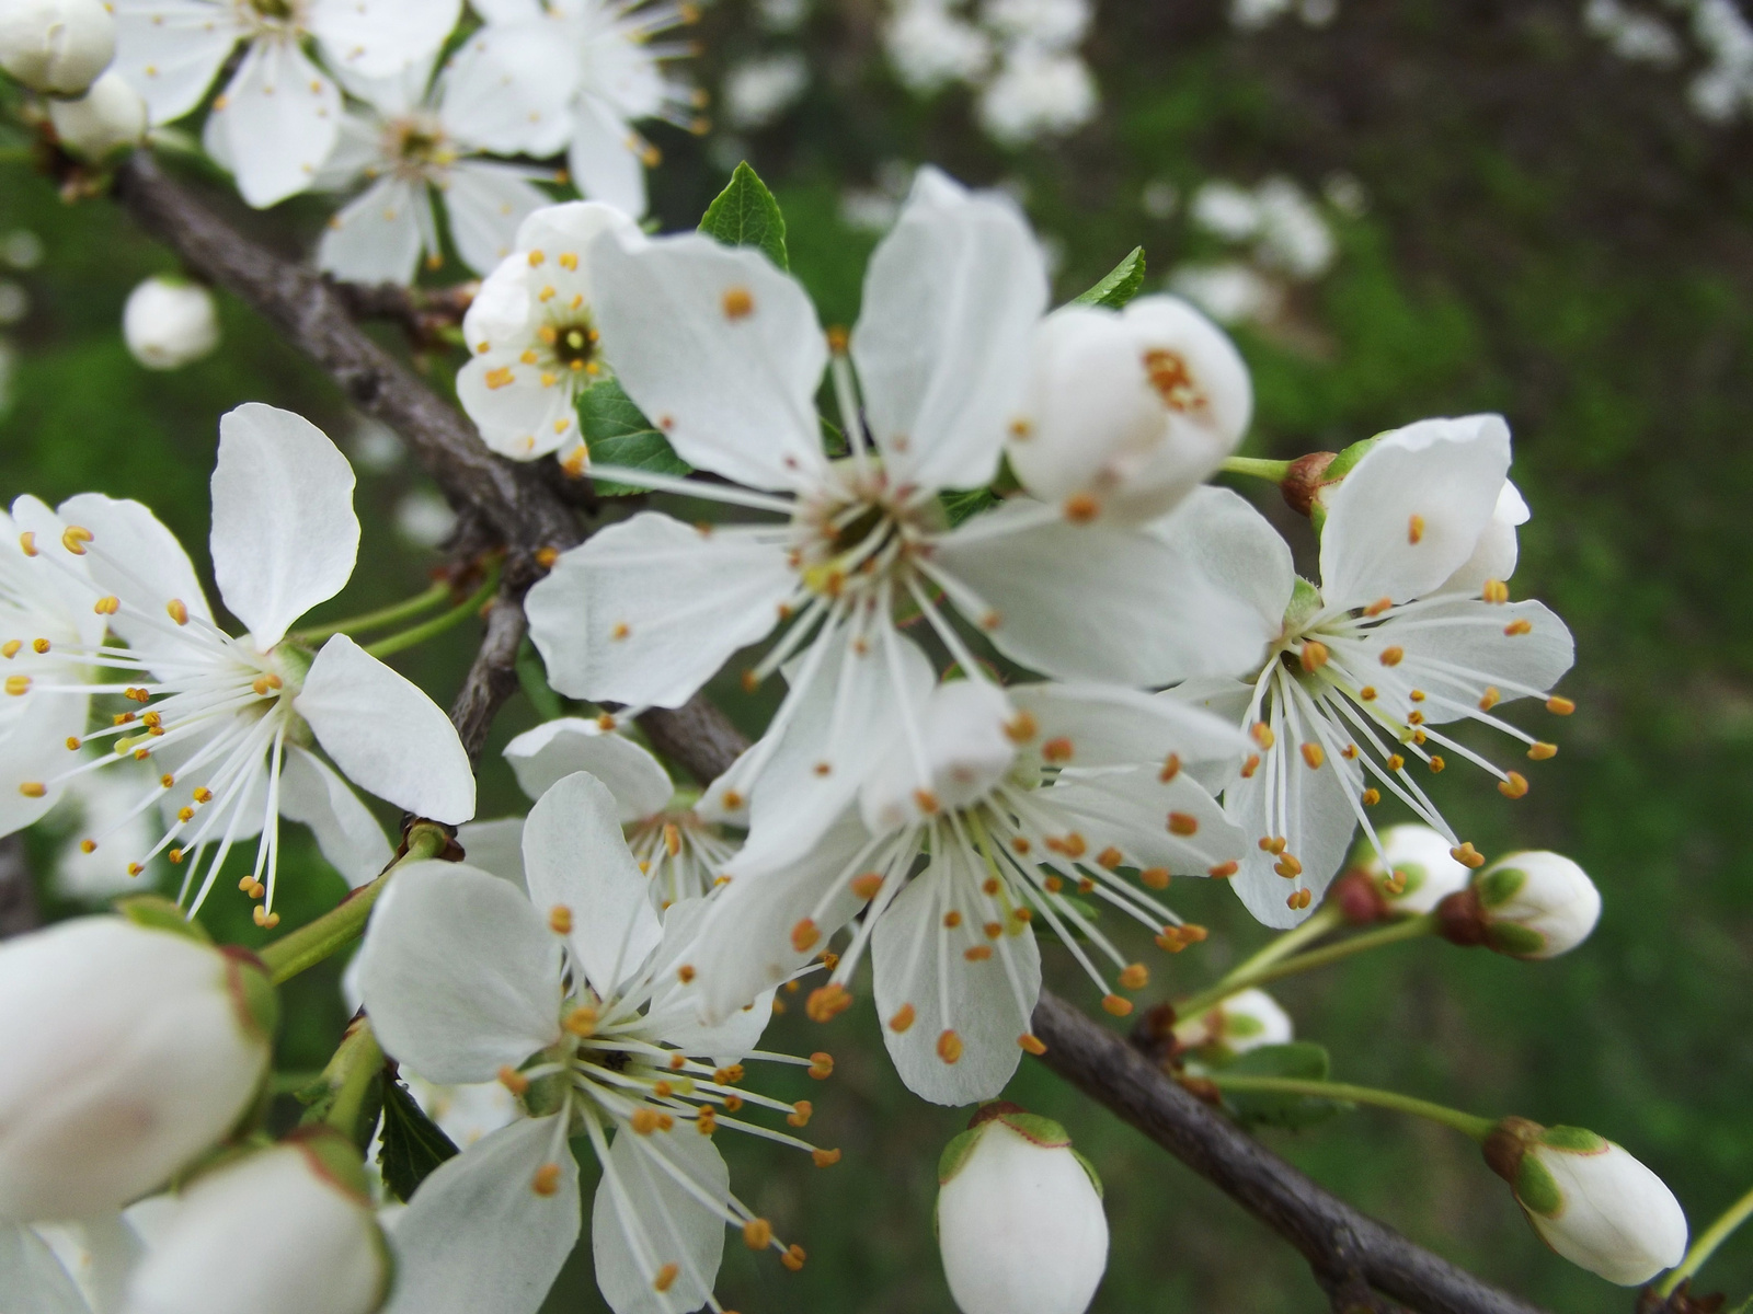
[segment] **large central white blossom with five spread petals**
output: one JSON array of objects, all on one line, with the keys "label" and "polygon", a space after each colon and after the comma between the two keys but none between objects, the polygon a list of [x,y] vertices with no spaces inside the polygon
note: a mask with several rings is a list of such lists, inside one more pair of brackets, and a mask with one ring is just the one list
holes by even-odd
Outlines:
[{"label": "large central white blossom with five spread petals", "polygon": [[[1076,508],[1017,498],[948,527],[938,494],[996,475],[1047,301],[1034,238],[1008,200],[920,173],[871,259],[850,359],[834,352],[845,459],[822,447],[813,398],[829,347],[815,310],[764,256],[701,235],[605,237],[589,273],[622,387],[684,461],[726,482],[586,470],[785,519],[692,526],[643,512],[610,526],[531,589],[531,638],[573,697],[678,706],[789,622],[745,682],[796,657],[791,694],[724,785],[759,825],[754,781],[782,746],[803,755],[806,795],[775,804],[798,823],[799,851],[873,762],[868,727],[899,724],[922,741],[905,668],[924,657],[899,610],[924,611],[964,669],[978,662],[954,615],[1036,671],[1131,685],[1243,669],[1276,629],[1183,552]],[[819,680],[834,682],[833,713],[798,718]]]}]

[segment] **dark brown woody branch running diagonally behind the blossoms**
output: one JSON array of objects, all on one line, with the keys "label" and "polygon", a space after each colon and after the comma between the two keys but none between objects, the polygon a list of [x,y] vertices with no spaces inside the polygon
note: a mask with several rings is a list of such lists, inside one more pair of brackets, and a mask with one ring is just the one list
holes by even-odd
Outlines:
[{"label": "dark brown woody branch running diagonally behind the blossoms", "polygon": [[[580,541],[571,510],[536,466],[493,456],[454,406],[366,336],[333,284],[238,233],[165,175],[151,152],[138,151],[121,165],[116,193],[193,273],[254,307],[361,410],[400,433],[452,506],[489,526],[510,548],[507,585],[452,710],[470,757],[479,757],[494,713],[517,687],[522,589],[531,576],[524,562],[538,547]],[[722,774],[749,746],[701,697],[677,711],[647,711],[640,724],[659,752],[701,781]],[[1376,1295],[1383,1293],[1420,1314],[1537,1314],[1327,1193],[1057,995],[1041,992],[1033,1025],[1054,1072],[1283,1235],[1308,1258],[1336,1310],[1390,1310]]]}]

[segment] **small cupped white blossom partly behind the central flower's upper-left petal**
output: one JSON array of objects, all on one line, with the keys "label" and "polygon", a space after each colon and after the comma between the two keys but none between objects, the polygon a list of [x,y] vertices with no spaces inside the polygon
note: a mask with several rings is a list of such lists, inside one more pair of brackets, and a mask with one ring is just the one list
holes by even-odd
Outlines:
[{"label": "small cupped white blossom partly behind the central flower's upper-left petal", "polygon": [[501,456],[533,461],[552,452],[568,470],[582,468],[575,406],[603,370],[586,252],[603,233],[636,237],[638,230],[600,201],[536,210],[463,317],[472,356],[456,394]]}]

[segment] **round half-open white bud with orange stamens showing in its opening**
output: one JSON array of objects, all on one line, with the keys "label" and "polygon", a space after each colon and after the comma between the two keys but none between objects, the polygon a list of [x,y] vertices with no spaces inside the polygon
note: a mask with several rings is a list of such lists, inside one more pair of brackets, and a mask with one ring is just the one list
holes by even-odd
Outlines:
[{"label": "round half-open white bud with orange stamens showing in its opening", "polygon": [[1010,463],[1073,520],[1153,520],[1224,463],[1252,413],[1248,366],[1187,301],[1073,305],[1036,329]]}]

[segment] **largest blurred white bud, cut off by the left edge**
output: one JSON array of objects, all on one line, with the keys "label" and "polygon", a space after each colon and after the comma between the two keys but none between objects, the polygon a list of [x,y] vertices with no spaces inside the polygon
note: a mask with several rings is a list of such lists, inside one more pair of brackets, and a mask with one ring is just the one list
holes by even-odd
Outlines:
[{"label": "largest blurred white bud, cut off by the left edge", "polygon": [[191,934],[88,916],[0,946],[0,1219],[121,1209],[268,1072],[273,988]]}]

